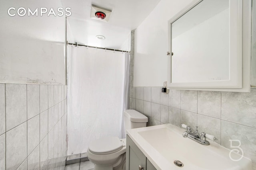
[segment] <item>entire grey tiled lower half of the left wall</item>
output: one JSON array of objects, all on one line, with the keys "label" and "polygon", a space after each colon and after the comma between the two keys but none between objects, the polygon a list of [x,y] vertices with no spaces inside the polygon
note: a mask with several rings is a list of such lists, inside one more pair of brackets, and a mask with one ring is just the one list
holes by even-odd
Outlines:
[{"label": "entire grey tiled lower half of the left wall", "polygon": [[0,169],[64,170],[66,86],[0,84]]}]

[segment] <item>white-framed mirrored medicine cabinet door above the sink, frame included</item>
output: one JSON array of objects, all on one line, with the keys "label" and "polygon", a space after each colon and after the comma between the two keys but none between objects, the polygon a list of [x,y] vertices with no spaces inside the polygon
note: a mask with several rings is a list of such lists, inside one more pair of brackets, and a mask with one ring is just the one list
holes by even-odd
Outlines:
[{"label": "white-framed mirrored medicine cabinet door above the sink, frame included", "polygon": [[169,86],[242,88],[241,2],[193,1],[168,21]]}]

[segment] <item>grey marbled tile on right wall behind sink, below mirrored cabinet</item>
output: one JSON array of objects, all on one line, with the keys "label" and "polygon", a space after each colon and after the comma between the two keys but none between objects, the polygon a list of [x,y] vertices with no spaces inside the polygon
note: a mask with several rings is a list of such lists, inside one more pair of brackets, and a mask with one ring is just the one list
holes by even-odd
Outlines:
[{"label": "grey marbled tile on right wall behind sink, below mirrored cabinet", "polygon": [[[256,89],[250,93],[170,90],[161,87],[130,88],[130,109],[148,117],[147,126],[184,123],[192,129],[214,135],[230,148],[230,139],[240,140],[244,156],[256,170]],[[238,145],[234,144],[234,145]]]}]

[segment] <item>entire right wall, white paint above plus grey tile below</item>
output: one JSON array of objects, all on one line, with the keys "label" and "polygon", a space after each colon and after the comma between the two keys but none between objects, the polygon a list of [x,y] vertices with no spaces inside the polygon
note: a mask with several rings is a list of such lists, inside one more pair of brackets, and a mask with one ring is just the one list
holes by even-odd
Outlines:
[{"label": "entire right wall, white paint above plus grey tile below", "polygon": [[[134,65],[130,74],[130,108],[149,118],[148,126],[171,123],[198,125],[200,132],[215,135],[220,145],[230,149],[229,139],[241,141],[244,156],[256,170],[256,89],[245,92],[170,90],[161,93],[166,81],[167,21],[191,1],[174,4],[161,0],[135,30]],[[252,11],[255,14],[255,2]],[[252,16],[254,17],[254,15]],[[246,31],[245,31],[246,32]],[[252,72],[255,58],[255,22],[252,23]],[[133,51],[131,51],[133,56]],[[247,52],[246,52],[247,53]],[[247,70],[246,70],[247,72]],[[252,85],[255,74],[252,73]]]}]

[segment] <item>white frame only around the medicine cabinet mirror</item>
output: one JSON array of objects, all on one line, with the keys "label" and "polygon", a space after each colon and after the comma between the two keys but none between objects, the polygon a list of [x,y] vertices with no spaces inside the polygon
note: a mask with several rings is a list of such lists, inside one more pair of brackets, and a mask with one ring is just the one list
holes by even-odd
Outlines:
[{"label": "white frame only around the medicine cabinet mirror", "polygon": [[[172,53],[172,28],[174,21],[186,14],[203,0],[193,0],[186,8],[181,10],[168,21],[168,51]],[[242,88],[242,2],[243,0],[229,0],[230,6],[230,39],[229,60],[230,79],[212,80],[205,82],[172,83],[172,59],[168,57],[168,87],[169,88]],[[230,57],[232,56],[232,57]]]}]

